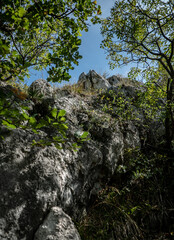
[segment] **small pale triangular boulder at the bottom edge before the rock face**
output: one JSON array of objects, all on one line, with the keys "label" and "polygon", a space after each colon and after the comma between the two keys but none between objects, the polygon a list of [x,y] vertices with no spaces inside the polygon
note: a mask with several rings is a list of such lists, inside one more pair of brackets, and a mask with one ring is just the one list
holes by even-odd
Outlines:
[{"label": "small pale triangular boulder at the bottom edge before the rock face", "polygon": [[80,240],[71,218],[60,207],[53,207],[34,240]]}]

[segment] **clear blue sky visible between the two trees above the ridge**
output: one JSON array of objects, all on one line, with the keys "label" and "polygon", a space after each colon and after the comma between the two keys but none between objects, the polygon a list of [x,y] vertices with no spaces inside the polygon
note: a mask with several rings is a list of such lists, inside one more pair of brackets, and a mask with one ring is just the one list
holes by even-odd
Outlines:
[{"label": "clear blue sky visible between the two trees above the ridge", "polygon": [[[102,17],[109,16],[110,9],[113,6],[114,2],[114,0],[97,1],[97,3],[101,5]],[[107,72],[109,75],[121,74],[126,77],[130,69],[128,66],[110,70],[108,60],[106,59],[106,53],[103,49],[100,48],[100,44],[103,39],[102,35],[100,34],[100,25],[92,25],[92,23],[90,25],[91,26],[89,27],[88,32],[82,32],[82,44],[80,46],[79,52],[83,58],[79,60],[79,65],[75,66],[75,69],[70,71],[70,83],[76,83],[78,81],[79,75],[82,72],[88,73],[89,70],[92,69],[99,74]],[[30,73],[30,79],[26,79],[28,84],[38,78],[47,78],[46,71],[31,71]]]}]

